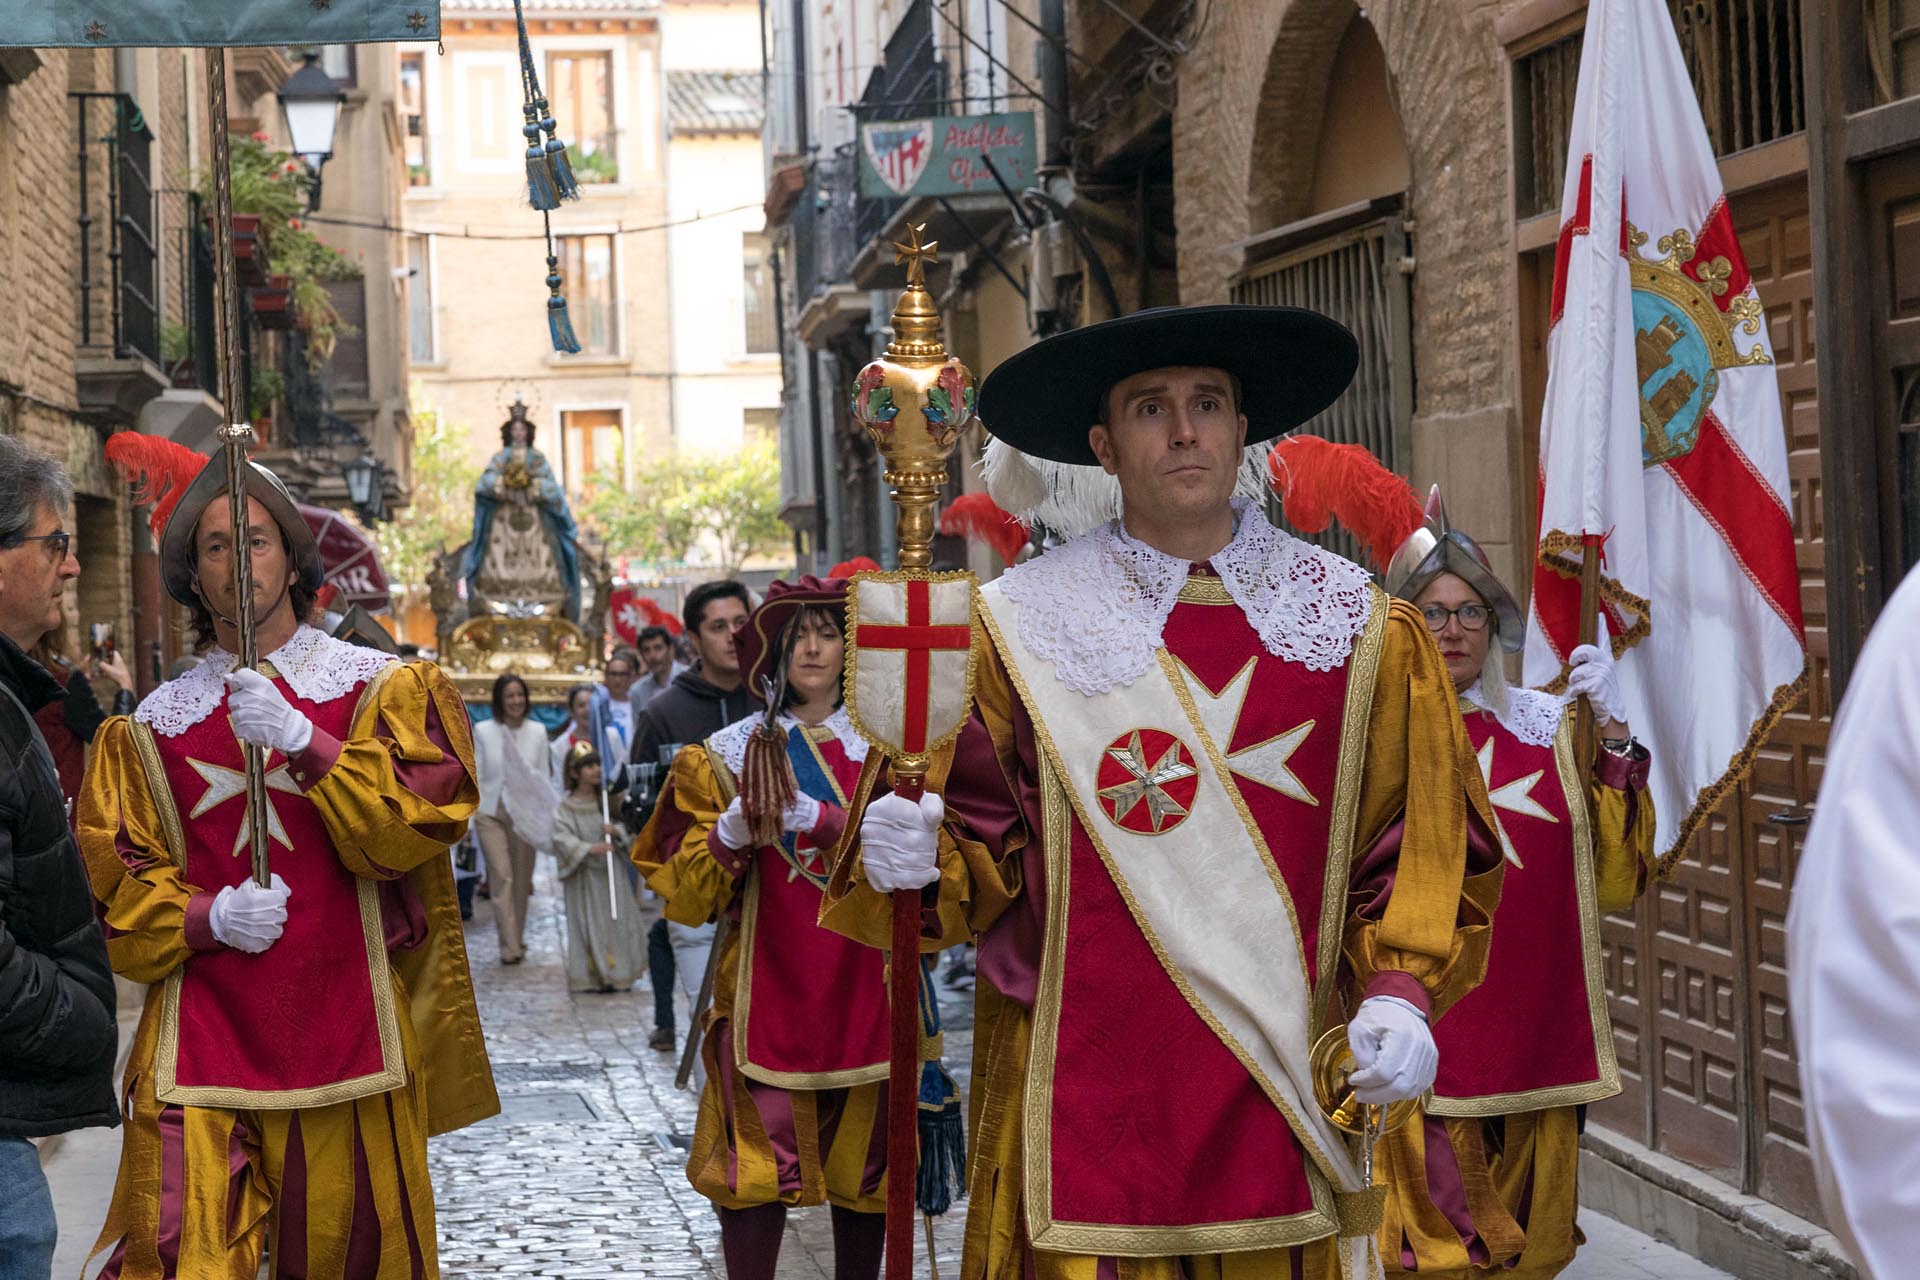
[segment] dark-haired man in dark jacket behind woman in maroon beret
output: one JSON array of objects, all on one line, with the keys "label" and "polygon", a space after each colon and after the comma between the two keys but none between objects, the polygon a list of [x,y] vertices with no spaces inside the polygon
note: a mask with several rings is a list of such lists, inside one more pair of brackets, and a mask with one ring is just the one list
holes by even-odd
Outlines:
[{"label": "dark-haired man in dark jacket behind woman in maroon beret", "polygon": [[[756,699],[741,685],[733,631],[747,622],[747,587],[737,581],[703,581],[687,593],[682,620],[693,637],[699,668],[682,672],[666,693],[653,699],[634,727],[634,764],[655,764],[664,773],[674,754],[687,743],[705,743],[716,729],[756,710]],[[645,821],[645,816],[641,816]],[[649,1044],[672,1052],[676,1036],[674,971],[691,1004],[707,973],[707,952],[714,927],[678,925],[659,919],[647,931],[647,973],[653,981],[653,1038]]]}]

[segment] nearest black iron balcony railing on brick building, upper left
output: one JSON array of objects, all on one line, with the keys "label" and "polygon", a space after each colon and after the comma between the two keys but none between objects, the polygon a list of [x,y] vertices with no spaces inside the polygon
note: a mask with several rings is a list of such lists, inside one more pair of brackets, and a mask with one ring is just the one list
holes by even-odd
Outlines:
[{"label": "nearest black iron balcony railing on brick building, upper left", "polygon": [[81,196],[81,345],[159,365],[154,134],[127,94],[67,94]]}]

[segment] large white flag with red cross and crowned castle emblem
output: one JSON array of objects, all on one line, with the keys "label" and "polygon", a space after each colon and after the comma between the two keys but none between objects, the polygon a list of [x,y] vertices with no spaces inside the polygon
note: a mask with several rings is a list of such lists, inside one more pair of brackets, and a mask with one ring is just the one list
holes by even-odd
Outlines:
[{"label": "large white flag with red cross and crowned castle emblem", "polygon": [[[1805,317],[1795,317],[1795,324]],[[1797,700],[1788,449],[1747,273],[1672,17],[1588,6],[1553,267],[1526,683],[1580,631],[1580,558],[1678,854]]]}]

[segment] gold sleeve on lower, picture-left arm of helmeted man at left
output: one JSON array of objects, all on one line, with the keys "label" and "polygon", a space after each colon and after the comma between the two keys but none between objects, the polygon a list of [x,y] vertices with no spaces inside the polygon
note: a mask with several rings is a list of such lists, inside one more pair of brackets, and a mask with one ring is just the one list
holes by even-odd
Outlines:
[{"label": "gold sleeve on lower, picture-left arm of helmeted man at left", "polygon": [[180,879],[127,716],[113,716],[94,735],[75,825],[113,971],[159,983],[194,954],[186,904],[200,890]]}]

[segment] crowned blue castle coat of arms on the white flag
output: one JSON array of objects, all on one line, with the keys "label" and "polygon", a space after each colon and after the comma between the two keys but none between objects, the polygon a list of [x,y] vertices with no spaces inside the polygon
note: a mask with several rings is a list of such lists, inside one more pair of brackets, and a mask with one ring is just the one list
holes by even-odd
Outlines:
[{"label": "crowned blue castle coat of arms on the white flag", "polygon": [[[1628,223],[1634,288],[1634,357],[1640,384],[1640,459],[1659,466],[1686,457],[1720,390],[1720,370],[1770,365],[1764,338],[1745,355],[1734,332],[1761,334],[1761,299],[1745,290],[1728,297],[1734,263],[1705,257],[1688,230],[1661,236],[1665,257],[1642,257],[1647,232]],[[1736,249],[1738,251],[1738,249]],[[1741,265],[1740,271],[1745,276]]]}]

